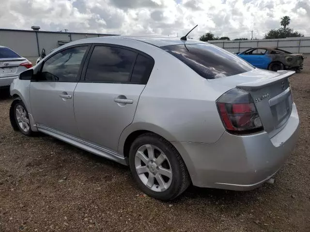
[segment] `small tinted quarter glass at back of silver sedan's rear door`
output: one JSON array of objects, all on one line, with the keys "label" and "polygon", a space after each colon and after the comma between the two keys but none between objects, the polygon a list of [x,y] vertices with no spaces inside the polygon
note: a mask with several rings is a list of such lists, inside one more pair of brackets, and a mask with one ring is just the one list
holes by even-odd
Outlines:
[{"label": "small tinted quarter glass at back of silver sedan's rear door", "polygon": [[152,58],[138,55],[134,70],[132,71],[131,83],[145,85],[150,77],[154,66],[154,60]]}]

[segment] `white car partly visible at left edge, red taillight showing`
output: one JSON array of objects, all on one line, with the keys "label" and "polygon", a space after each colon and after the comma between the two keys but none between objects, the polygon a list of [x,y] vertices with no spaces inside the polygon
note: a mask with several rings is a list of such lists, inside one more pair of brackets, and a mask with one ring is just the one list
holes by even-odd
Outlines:
[{"label": "white car partly visible at left edge, red taillight showing", "polygon": [[18,74],[31,68],[31,62],[8,47],[0,46],[0,87],[8,87]]}]

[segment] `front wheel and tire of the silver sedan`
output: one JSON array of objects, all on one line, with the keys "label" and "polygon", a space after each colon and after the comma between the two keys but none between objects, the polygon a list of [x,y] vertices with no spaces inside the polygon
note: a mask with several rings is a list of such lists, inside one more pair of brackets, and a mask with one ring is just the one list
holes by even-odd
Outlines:
[{"label": "front wheel and tire of the silver sedan", "polygon": [[22,102],[19,98],[14,100],[11,105],[10,120],[15,131],[20,131],[27,136],[32,136],[35,134],[31,131],[27,108],[24,102]]}]

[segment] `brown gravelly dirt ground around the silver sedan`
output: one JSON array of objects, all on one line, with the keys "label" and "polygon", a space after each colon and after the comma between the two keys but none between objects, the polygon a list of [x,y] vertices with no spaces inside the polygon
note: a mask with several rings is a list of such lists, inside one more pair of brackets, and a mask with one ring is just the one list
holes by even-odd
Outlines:
[{"label": "brown gravelly dirt ground around the silver sedan", "polygon": [[49,136],[12,130],[0,94],[0,232],[310,232],[310,56],[291,78],[300,137],[273,185],[190,187],[169,203],[143,196],[129,168]]}]

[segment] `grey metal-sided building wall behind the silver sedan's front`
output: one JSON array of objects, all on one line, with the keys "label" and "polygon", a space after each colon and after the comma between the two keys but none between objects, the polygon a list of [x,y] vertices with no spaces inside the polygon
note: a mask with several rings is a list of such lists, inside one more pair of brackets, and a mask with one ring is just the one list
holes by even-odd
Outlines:
[{"label": "grey metal-sided building wall behind the silver sedan's front", "polygon": [[6,46],[26,57],[31,62],[40,56],[42,49],[50,52],[52,49],[70,41],[109,36],[110,34],[71,33],[54,31],[33,31],[0,29],[0,45]]}]

